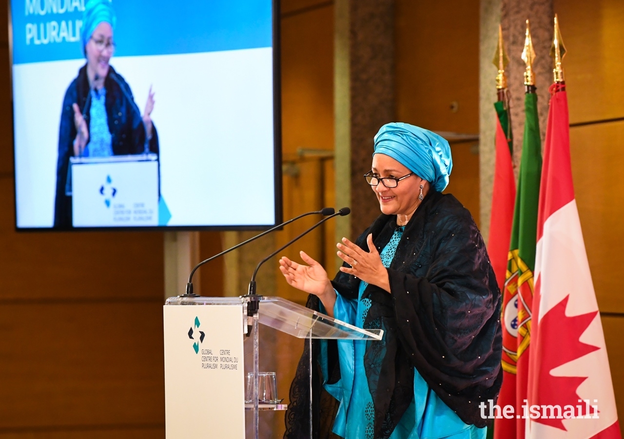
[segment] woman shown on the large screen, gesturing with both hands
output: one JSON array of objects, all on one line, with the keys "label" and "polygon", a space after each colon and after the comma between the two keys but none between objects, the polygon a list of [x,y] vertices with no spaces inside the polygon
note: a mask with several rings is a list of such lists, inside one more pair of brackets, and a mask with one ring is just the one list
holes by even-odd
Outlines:
[{"label": "woman shown on the large screen, gesturing with both hands", "polygon": [[69,157],[158,154],[151,87],[141,114],[130,86],[110,66],[115,21],[110,0],[87,1],[81,34],[87,62],[67,88],[61,113],[54,227],[72,226],[72,198],[66,195]]}]

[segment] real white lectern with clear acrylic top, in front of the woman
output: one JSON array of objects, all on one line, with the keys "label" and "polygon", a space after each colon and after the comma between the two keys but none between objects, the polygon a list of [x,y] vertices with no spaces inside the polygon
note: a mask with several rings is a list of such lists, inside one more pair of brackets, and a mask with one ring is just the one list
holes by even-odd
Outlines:
[{"label": "real white lectern with clear acrylic top, in front of the woman", "polygon": [[[165,333],[165,430],[167,439],[245,438],[245,410],[284,410],[258,401],[258,323],[298,338],[381,340],[383,330],[364,330],[280,297],[260,297],[247,316],[249,297],[170,297],[163,307]],[[245,404],[243,339],[251,326],[253,387]],[[310,348],[310,355],[312,350]],[[298,352],[293,355],[299,355]],[[310,357],[310,361],[312,358]],[[310,384],[311,384],[310,368]],[[310,392],[312,398],[312,392]],[[310,407],[312,407],[310,403]],[[312,434],[310,417],[310,435]]]}]

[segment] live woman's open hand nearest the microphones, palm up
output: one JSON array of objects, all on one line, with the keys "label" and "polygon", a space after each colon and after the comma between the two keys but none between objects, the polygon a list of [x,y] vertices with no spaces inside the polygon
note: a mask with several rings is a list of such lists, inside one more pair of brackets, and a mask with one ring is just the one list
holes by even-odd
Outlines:
[{"label": "live woman's open hand nearest the microphones, palm up", "polygon": [[308,265],[297,264],[285,256],[280,259],[280,271],[286,278],[288,285],[320,298],[333,294],[334,289],[321,264],[306,255],[305,252],[299,252],[299,254],[303,262]]}]

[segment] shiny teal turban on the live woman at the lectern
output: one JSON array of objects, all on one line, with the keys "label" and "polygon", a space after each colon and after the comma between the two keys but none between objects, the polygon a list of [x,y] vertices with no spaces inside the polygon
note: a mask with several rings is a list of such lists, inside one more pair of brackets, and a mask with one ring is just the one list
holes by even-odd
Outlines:
[{"label": "shiny teal turban on the live woman at the lectern", "polygon": [[438,192],[449,184],[453,167],[451,147],[446,139],[420,127],[402,122],[386,124],[375,138],[375,154],[385,154],[431,183]]}]

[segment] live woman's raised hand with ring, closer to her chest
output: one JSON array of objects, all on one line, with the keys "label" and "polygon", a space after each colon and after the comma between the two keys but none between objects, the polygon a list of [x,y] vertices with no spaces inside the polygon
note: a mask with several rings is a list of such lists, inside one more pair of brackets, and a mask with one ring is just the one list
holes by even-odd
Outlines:
[{"label": "live woman's raised hand with ring, closer to her chest", "polygon": [[369,252],[360,249],[358,245],[353,244],[346,238],[343,238],[343,244],[336,244],[340,249],[338,256],[351,268],[340,267],[340,271],[353,274],[355,277],[379,288],[390,292],[390,280],[388,278],[388,270],[381,263],[379,252],[373,244],[373,234],[366,237]]}]

